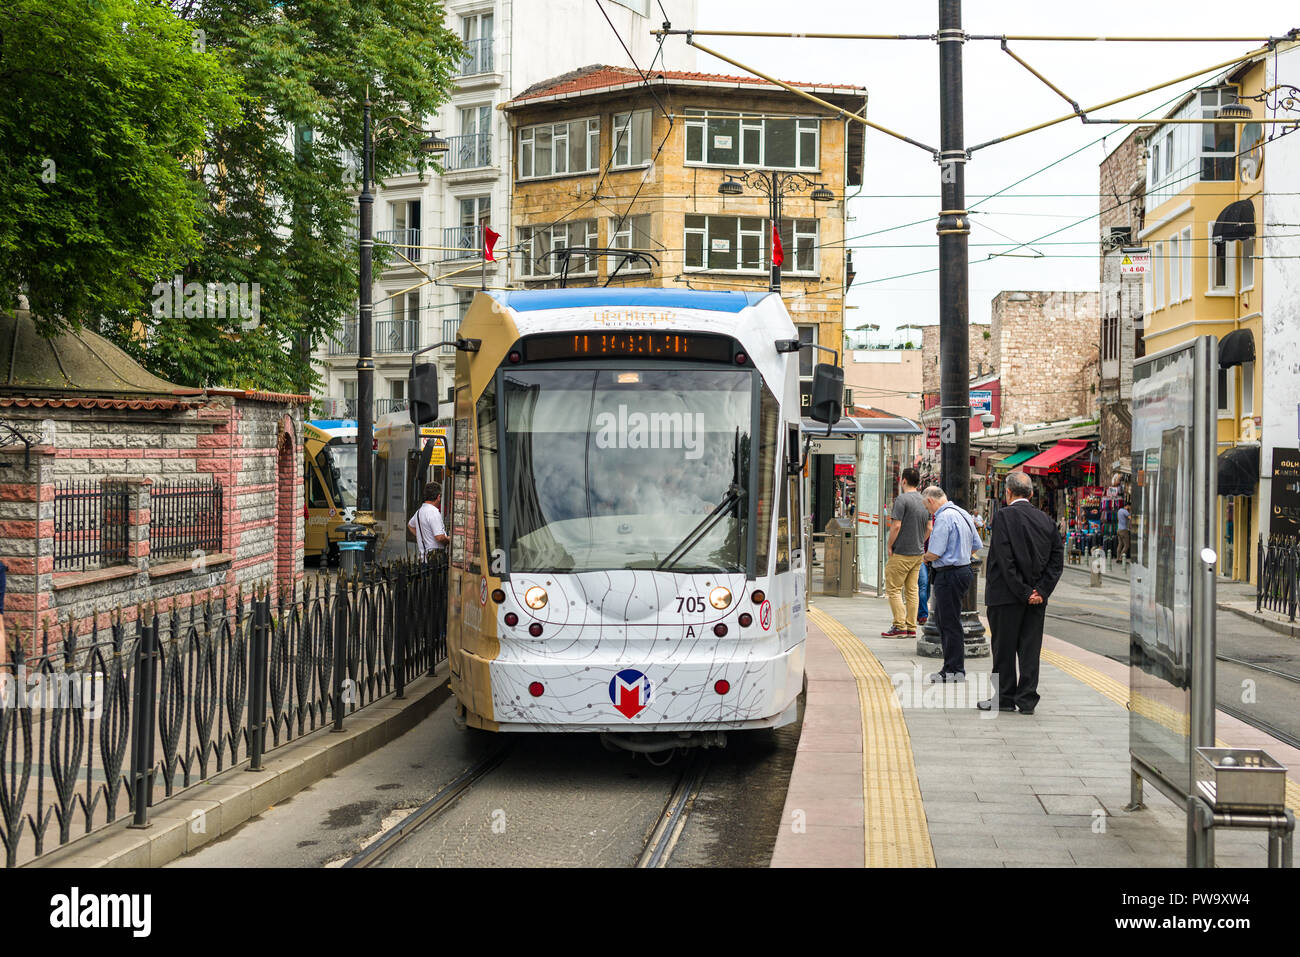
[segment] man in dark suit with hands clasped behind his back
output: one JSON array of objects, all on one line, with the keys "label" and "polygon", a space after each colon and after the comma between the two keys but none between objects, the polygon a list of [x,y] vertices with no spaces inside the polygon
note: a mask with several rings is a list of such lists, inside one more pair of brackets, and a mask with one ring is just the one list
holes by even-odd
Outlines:
[{"label": "man in dark suit with hands clasped behind his back", "polygon": [[979,706],[984,711],[997,707],[1034,714],[1039,703],[1043,622],[1065,567],[1065,547],[1052,519],[1030,503],[1034,482],[1024,472],[1008,475],[1004,488],[1006,507],[993,520],[984,584],[998,693]]}]

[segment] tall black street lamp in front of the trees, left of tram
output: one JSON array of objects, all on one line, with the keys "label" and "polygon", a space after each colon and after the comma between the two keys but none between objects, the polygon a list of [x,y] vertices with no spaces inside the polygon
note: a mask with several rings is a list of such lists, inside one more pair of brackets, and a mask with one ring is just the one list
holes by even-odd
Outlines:
[{"label": "tall black street lamp in front of the trees, left of tram", "polygon": [[402,116],[387,116],[373,125],[370,122],[370,96],[365,96],[365,112],[361,124],[361,195],[360,205],[360,290],[358,308],[356,345],[356,524],[361,525],[361,536],[373,536],[374,515],[374,356],[370,355],[372,324],[374,306],[370,302],[373,285],[372,261],[374,252],[374,194],[370,191],[370,177],[374,173],[374,138],[393,135],[399,126],[425,134],[416,147],[426,156],[437,156],[447,151],[447,140],[437,130],[421,129],[419,124]]}]

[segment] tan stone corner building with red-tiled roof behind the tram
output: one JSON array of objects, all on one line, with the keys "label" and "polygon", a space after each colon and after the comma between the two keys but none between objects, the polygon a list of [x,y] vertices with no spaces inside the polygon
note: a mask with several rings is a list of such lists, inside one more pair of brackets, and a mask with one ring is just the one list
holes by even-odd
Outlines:
[{"label": "tan stone corner building with red-tiled roof behind the tram", "polygon": [[[864,90],[793,86],[866,111]],[[615,66],[538,83],[500,108],[514,140],[511,228],[500,241],[512,282],[767,289],[762,187],[775,173],[785,192],[786,308],[805,341],[840,348],[852,269],[845,190],[862,183],[861,124],[750,77],[656,70],[644,82]],[[729,192],[719,192],[724,182]],[[807,402],[822,359],[801,355]]]}]

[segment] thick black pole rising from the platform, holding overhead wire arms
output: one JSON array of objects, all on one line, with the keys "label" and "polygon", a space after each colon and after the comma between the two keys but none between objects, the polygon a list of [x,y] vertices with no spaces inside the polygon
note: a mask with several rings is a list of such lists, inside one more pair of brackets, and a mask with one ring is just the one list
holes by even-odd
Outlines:
[{"label": "thick black pole rising from the platform, holding overhead wire arms", "polygon": [[[966,209],[966,129],[962,99],[961,0],[939,0],[939,408],[940,484],[948,497],[970,507],[970,213]],[[979,581],[979,568],[975,581]],[[975,610],[979,586],[962,601],[966,654],[989,654]],[[927,628],[928,631],[928,628]],[[918,648],[920,640],[918,636]]]}]

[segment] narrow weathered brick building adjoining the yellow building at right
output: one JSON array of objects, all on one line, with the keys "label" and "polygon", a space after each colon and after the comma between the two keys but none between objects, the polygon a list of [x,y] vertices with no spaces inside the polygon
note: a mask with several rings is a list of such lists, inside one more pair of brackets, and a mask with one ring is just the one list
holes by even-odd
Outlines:
[{"label": "narrow weathered brick building adjoining the yellow building at right", "polygon": [[1145,355],[1141,276],[1119,272],[1124,250],[1138,246],[1144,222],[1145,148],[1150,133],[1141,126],[1130,133],[1098,170],[1101,209],[1101,328],[1098,330],[1101,374],[1097,382],[1101,463],[1108,471],[1128,469],[1132,439],[1134,359]]}]

